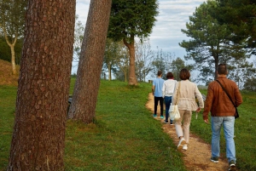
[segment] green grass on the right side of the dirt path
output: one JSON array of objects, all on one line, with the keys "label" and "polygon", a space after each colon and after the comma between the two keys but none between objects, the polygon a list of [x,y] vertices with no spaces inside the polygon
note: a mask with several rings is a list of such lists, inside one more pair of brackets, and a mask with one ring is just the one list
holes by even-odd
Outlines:
[{"label": "green grass on the right side of the dirt path", "polygon": [[[202,91],[202,94],[207,94],[207,91]],[[236,167],[240,170],[256,170],[256,92],[241,92],[241,95],[243,103],[238,107],[240,117],[236,119],[235,123]],[[193,116],[190,131],[198,134],[203,140],[211,144],[211,124],[204,123],[201,114],[199,114],[197,120]],[[225,158],[223,129],[221,136],[220,149],[222,156]]]}]

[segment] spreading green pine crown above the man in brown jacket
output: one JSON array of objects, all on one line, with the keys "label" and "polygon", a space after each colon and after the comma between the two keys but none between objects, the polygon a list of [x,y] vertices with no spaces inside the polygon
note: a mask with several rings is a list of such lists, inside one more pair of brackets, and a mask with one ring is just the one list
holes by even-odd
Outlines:
[{"label": "spreading green pine crown above the man in brown jacket", "polygon": [[218,3],[207,1],[195,9],[189,17],[187,29],[182,29],[189,41],[183,40],[179,45],[186,49],[186,60],[195,60],[195,68],[201,71],[200,80],[209,82],[217,78],[216,69],[219,63],[230,64],[232,60],[248,58],[244,39],[236,43],[230,41],[233,32],[230,26],[218,21]]}]

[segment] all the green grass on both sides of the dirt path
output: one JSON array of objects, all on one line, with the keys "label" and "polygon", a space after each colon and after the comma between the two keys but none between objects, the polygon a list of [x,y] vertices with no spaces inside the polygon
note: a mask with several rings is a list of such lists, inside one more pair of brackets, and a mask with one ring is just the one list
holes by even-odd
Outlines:
[{"label": "all the green grass on both sides of the dirt path", "polygon": [[[70,94],[73,93],[74,78]],[[67,121],[65,170],[186,170],[172,139],[145,108],[151,84],[137,87],[101,81],[94,123]],[[17,88],[0,87],[0,170],[5,170],[15,116]],[[207,90],[201,90],[207,94]],[[236,119],[236,166],[256,170],[256,93],[243,92]],[[210,117],[209,117],[210,118]],[[191,132],[211,143],[211,126],[193,116]],[[225,158],[222,133],[221,152]],[[202,163],[203,164],[203,163]]]}]

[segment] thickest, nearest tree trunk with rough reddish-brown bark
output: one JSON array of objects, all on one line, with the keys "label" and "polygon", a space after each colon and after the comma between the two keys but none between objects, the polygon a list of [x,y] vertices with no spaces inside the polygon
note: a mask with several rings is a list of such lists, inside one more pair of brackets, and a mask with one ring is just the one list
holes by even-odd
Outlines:
[{"label": "thickest, nearest tree trunk with rough reddish-brown bark", "polygon": [[75,4],[28,1],[7,170],[64,170]]}]

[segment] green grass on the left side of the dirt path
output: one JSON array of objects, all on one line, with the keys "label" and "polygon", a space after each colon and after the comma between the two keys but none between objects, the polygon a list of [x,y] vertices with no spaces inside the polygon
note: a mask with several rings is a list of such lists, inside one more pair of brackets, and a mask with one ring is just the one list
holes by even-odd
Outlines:
[{"label": "green grass on the left side of the dirt path", "polygon": [[[73,79],[71,83],[73,88]],[[0,89],[0,100],[5,100],[3,92],[9,98],[8,110],[0,109],[6,116],[1,115],[1,125],[6,130],[0,128],[0,170],[5,170],[14,123],[13,91],[16,88]],[[150,91],[149,83],[133,87],[118,81],[102,81],[95,122],[84,125],[67,121],[65,170],[186,170],[177,146],[145,107]],[[2,140],[3,134],[6,134],[6,140]]]}]

